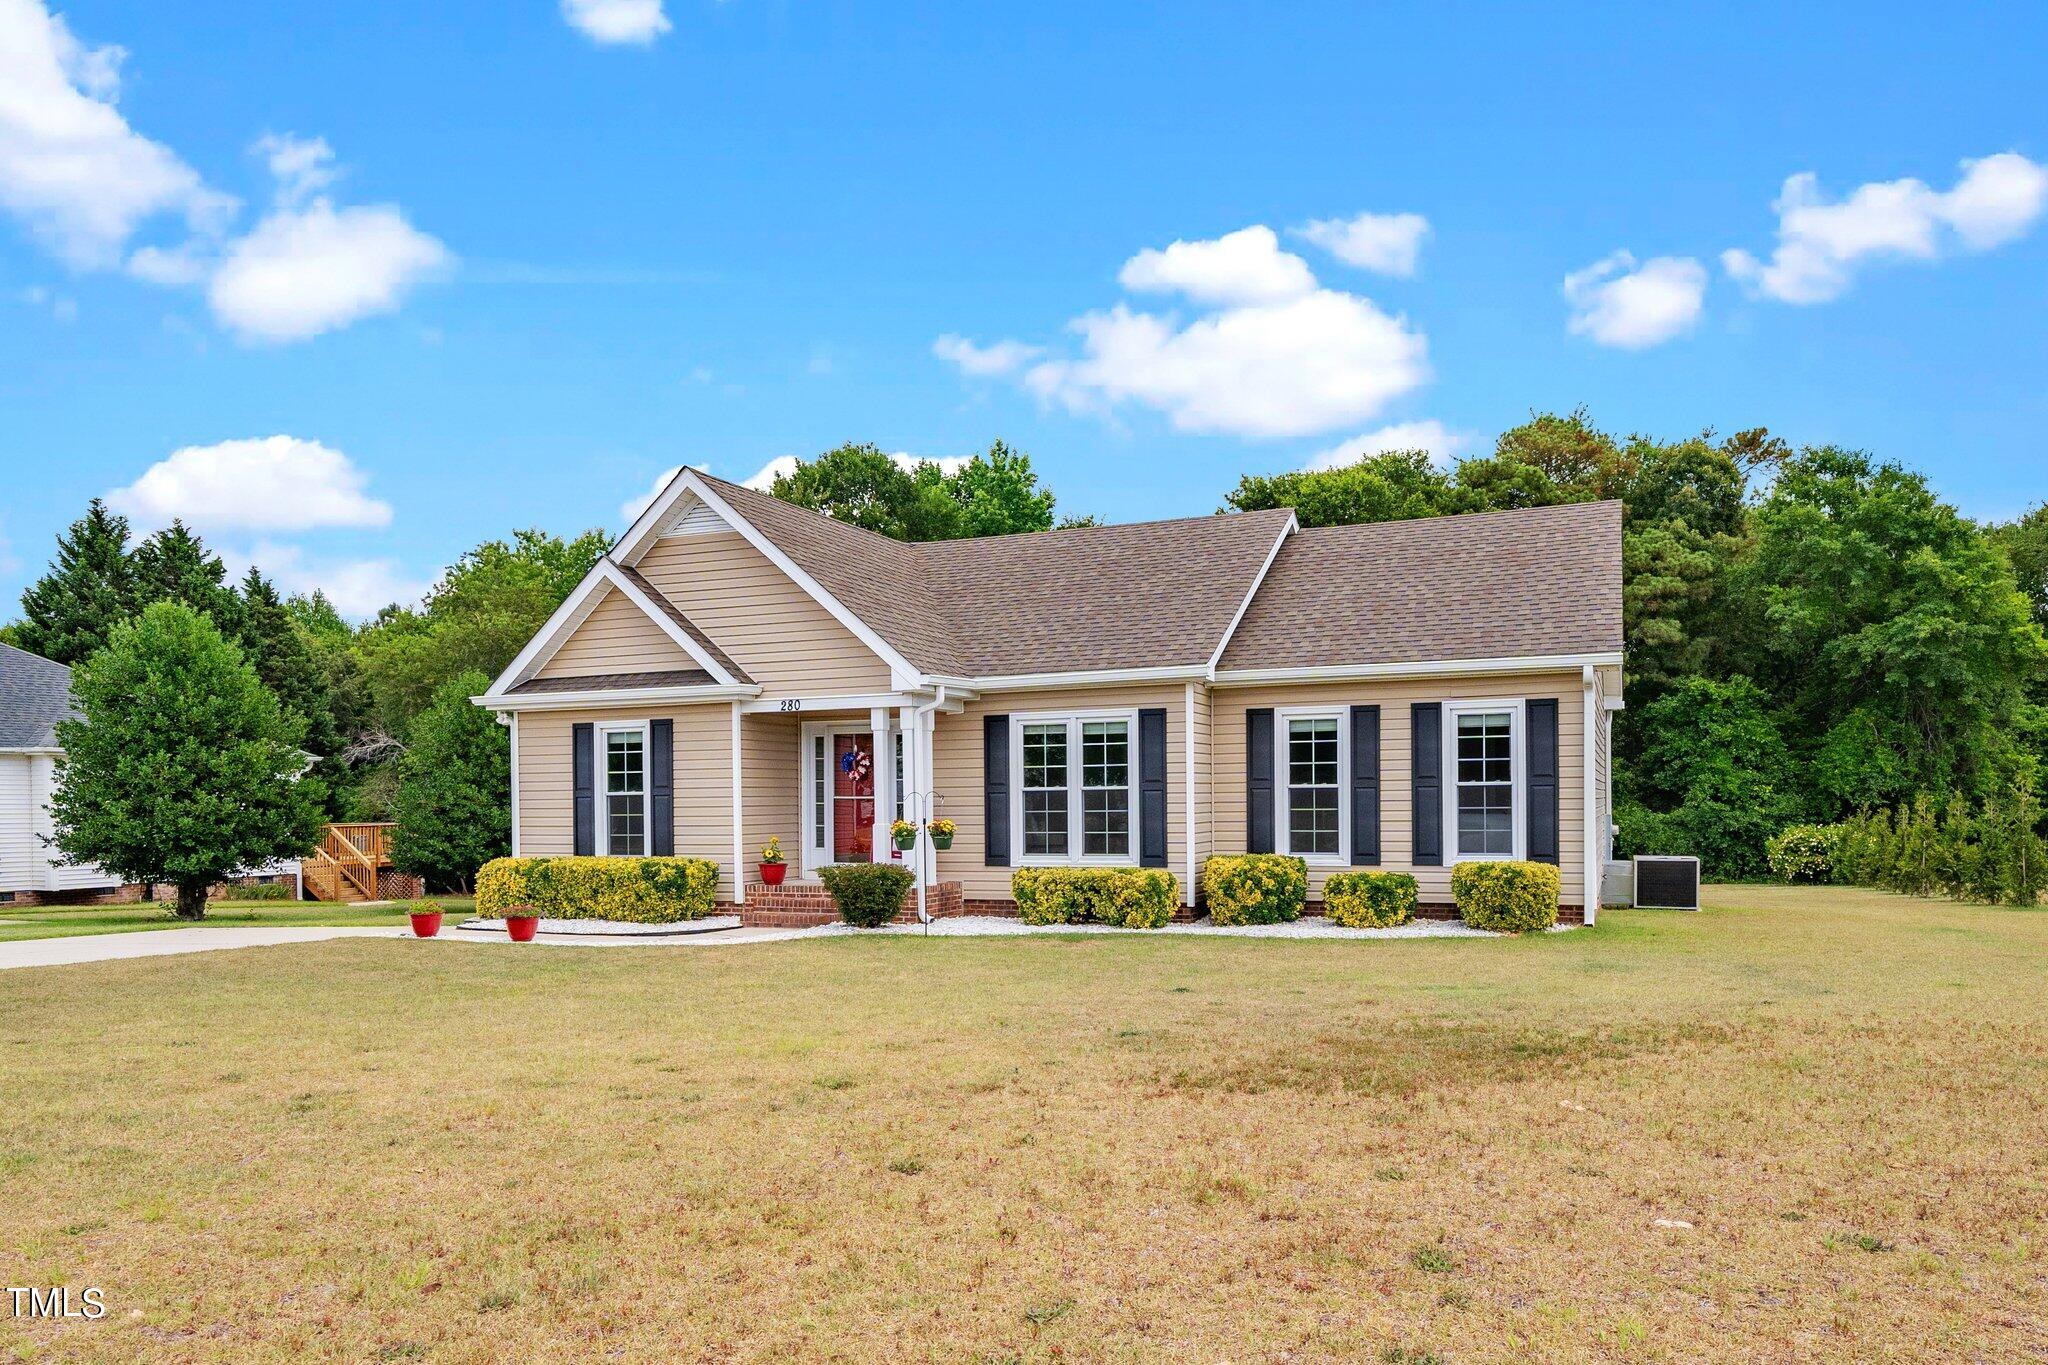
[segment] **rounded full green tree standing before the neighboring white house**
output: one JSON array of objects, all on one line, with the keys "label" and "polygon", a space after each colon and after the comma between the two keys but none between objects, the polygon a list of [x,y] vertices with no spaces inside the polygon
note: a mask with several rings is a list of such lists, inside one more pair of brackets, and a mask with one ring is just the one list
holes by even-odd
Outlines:
[{"label": "rounded full green tree standing before the neighboring white house", "polygon": [[178,917],[207,888],[319,837],[301,726],[211,620],[158,602],[72,673],[78,718],[57,724],[55,843],[129,882],[170,882]]}]

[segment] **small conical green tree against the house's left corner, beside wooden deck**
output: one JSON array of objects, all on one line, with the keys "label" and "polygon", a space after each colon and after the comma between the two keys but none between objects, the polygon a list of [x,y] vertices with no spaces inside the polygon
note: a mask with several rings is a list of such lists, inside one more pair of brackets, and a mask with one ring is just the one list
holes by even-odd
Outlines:
[{"label": "small conical green tree against the house's left corner, beside wooden deck", "polygon": [[492,679],[451,677],[414,718],[393,800],[391,862],[432,886],[469,890],[477,868],[512,849],[512,749],[469,698]]}]

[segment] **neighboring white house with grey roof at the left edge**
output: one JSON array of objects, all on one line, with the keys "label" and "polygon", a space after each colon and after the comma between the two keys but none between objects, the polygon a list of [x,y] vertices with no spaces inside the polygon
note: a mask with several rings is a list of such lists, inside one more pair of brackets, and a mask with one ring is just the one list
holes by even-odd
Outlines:
[{"label": "neighboring white house with grey roof at the left edge", "polygon": [[0,645],[0,902],[55,892],[115,890],[121,880],[90,864],[70,868],[49,847],[49,794],[57,780],[57,720],[72,714],[72,669]]}]

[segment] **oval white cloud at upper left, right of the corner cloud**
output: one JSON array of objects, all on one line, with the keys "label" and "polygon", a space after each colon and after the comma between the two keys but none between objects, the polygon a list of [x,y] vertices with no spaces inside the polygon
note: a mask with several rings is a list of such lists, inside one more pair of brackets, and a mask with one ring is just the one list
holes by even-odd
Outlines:
[{"label": "oval white cloud at upper left, right of the corner cloud", "polygon": [[279,205],[227,248],[207,303],[242,340],[297,342],[395,311],[414,284],[451,260],[449,248],[393,205]]}]

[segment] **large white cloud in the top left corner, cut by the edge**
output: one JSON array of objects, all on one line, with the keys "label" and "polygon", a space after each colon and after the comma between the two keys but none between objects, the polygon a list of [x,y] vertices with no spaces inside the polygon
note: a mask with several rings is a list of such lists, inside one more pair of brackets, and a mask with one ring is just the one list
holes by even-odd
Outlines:
[{"label": "large white cloud in the top left corner, cut by the edge", "polygon": [[233,211],[115,108],[125,55],[80,43],[43,0],[0,0],[0,207],[76,268],[117,264],[152,217],[201,231]]}]

